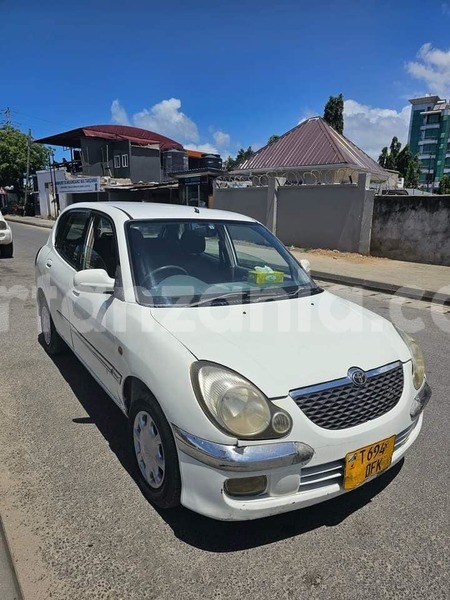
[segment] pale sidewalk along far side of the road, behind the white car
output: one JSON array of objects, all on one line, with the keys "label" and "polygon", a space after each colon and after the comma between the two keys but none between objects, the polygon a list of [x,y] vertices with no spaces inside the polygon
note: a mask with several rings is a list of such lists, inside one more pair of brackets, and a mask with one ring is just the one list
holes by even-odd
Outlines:
[{"label": "pale sidewalk along far side of the road, behind the white car", "polygon": [[[54,221],[6,215],[11,222],[51,229]],[[450,304],[450,266],[426,265],[332,250],[303,252],[290,248],[298,259],[307,258],[314,277],[414,300]]]}]

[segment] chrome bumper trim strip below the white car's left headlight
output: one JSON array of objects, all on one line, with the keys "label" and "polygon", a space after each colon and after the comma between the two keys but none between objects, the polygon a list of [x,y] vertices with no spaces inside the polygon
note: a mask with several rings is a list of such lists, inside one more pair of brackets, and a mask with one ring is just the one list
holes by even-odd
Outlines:
[{"label": "chrome bumper trim strip below the white car's left headlight", "polygon": [[265,471],[290,465],[305,465],[314,450],[302,442],[275,442],[256,446],[227,446],[209,442],[172,425],[179,450],[221,471]]}]

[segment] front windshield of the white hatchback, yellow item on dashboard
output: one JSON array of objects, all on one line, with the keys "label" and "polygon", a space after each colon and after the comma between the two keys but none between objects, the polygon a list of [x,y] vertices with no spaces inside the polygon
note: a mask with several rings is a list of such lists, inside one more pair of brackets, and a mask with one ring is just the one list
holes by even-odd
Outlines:
[{"label": "front windshield of the white hatchback, yellow item on dashboard", "polygon": [[130,221],[127,239],[137,297],[149,306],[246,304],[321,291],[258,223]]}]

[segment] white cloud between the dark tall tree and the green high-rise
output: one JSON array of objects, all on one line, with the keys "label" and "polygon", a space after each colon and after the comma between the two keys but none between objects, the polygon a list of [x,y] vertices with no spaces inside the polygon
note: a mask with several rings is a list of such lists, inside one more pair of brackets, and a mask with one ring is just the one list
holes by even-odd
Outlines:
[{"label": "white cloud between the dark tall tree and the green high-rise", "polygon": [[410,115],[410,106],[396,111],[345,100],[344,135],[376,160],[381,149],[390,145],[393,136],[406,144]]}]

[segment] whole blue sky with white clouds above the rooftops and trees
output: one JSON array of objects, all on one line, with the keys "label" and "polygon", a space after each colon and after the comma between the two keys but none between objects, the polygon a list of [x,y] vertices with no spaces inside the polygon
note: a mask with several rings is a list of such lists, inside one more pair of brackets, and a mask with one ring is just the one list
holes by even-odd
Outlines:
[{"label": "whole blue sky with white clouds above the rooftops and trees", "polygon": [[0,0],[0,17],[0,109],[34,138],[130,123],[226,156],[342,92],[344,133],[376,156],[405,141],[408,98],[450,95],[450,0]]}]

